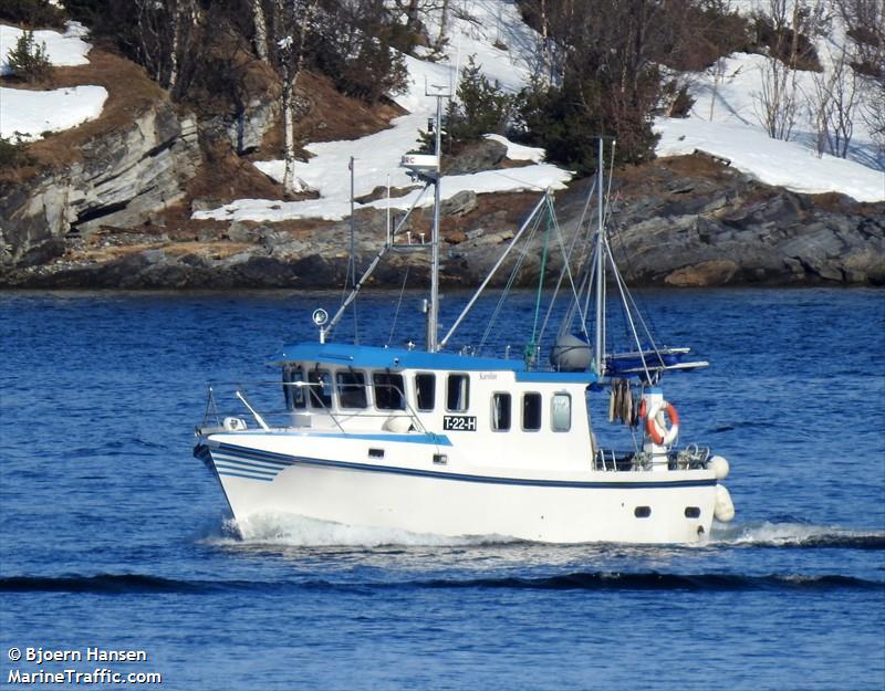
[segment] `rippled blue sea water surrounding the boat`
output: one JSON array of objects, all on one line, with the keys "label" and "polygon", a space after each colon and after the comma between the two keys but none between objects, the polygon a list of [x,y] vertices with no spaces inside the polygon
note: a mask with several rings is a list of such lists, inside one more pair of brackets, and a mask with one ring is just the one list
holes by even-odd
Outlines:
[{"label": "rippled blue sea water surrounding the boat", "polygon": [[[683,438],[731,462],[737,519],[705,545],[298,516],[238,540],[190,456],[206,384],[275,378],[268,356],[313,339],[312,310],[339,299],[0,294],[0,688],[25,685],[17,669],[104,666],[165,689],[885,689],[882,292],[639,293],[663,343],[711,362],[666,381]],[[388,341],[396,300],[360,302],[363,341]],[[420,341],[417,301],[394,343]],[[519,352],[533,295],[502,315],[493,352]],[[37,666],[13,647],[147,661]]]}]

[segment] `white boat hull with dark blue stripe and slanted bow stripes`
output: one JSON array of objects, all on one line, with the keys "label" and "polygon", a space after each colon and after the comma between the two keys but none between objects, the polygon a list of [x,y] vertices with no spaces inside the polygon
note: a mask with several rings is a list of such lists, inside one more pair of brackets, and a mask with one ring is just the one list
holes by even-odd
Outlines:
[{"label": "white boat hull with dark blue stripe and slanted bow stripes", "polygon": [[707,470],[532,478],[501,467],[489,474],[488,464],[433,463],[438,448],[427,442],[385,440],[386,459],[367,459],[368,446],[382,446],[372,437],[220,433],[202,440],[201,456],[238,522],[290,513],[550,543],[696,543],[709,535],[717,484]]}]

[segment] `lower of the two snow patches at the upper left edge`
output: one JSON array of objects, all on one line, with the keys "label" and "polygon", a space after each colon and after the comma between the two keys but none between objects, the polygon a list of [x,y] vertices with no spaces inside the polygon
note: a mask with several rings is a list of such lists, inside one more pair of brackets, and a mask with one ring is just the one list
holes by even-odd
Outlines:
[{"label": "lower of the two snow patches at the upper left edge", "polygon": [[0,87],[0,137],[17,134],[39,139],[44,132],[76,127],[102,114],[107,91],[103,86],[69,86],[52,91]]}]

